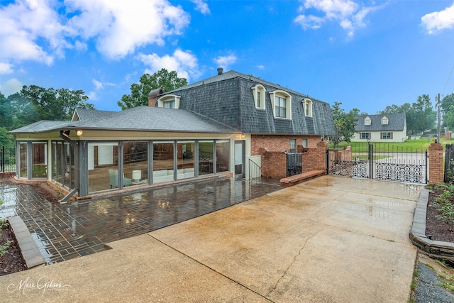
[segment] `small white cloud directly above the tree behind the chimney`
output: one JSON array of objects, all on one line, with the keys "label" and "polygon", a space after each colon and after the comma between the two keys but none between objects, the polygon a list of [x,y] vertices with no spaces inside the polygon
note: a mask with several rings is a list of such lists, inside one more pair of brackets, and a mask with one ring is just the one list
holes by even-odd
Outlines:
[{"label": "small white cloud directly above the tree behind the chimney", "polygon": [[153,75],[158,70],[165,68],[169,72],[175,70],[180,78],[186,78],[189,81],[189,77],[199,77],[199,63],[197,58],[190,52],[184,52],[183,50],[177,49],[173,55],[158,56],[156,53],[145,55],[139,54],[138,60],[142,61],[145,65],[149,65],[150,68],[146,69],[145,72]]}]

